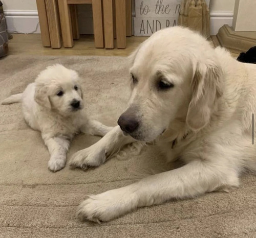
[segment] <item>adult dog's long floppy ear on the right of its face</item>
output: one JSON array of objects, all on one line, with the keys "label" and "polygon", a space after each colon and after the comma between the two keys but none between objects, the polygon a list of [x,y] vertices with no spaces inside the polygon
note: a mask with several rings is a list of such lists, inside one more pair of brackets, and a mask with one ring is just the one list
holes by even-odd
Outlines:
[{"label": "adult dog's long floppy ear on the right of its face", "polygon": [[189,103],[186,123],[197,131],[209,123],[217,98],[221,97],[222,68],[215,60],[198,63],[191,82],[192,98]]}]

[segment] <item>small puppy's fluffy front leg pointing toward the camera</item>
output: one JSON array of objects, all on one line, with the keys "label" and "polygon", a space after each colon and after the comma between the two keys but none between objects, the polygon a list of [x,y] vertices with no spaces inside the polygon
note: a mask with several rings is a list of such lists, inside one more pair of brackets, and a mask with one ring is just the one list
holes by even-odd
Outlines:
[{"label": "small puppy's fluffy front leg pointing toward the camera", "polygon": [[53,172],[61,170],[65,167],[70,141],[60,137],[44,138],[44,140],[51,155],[48,161],[49,170]]}]

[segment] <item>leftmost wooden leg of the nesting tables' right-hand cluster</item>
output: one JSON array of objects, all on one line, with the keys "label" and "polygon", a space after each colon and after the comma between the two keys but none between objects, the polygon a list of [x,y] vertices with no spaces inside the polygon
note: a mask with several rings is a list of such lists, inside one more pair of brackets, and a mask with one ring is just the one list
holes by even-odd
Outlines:
[{"label": "leftmost wooden leg of the nesting tables' right-hand cluster", "polygon": [[92,0],[92,7],[93,7],[94,44],[96,48],[103,48],[104,37],[103,37],[103,19],[102,19],[101,0]]}]

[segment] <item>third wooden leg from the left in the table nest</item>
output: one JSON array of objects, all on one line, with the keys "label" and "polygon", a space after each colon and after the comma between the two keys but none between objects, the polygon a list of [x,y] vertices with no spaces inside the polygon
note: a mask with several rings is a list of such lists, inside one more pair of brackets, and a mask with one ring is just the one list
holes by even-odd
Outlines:
[{"label": "third wooden leg from the left in the table nest", "polygon": [[66,48],[72,48],[74,45],[74,41],[68,2],[67,0],[58,0],[58,4],[63,45]]}]

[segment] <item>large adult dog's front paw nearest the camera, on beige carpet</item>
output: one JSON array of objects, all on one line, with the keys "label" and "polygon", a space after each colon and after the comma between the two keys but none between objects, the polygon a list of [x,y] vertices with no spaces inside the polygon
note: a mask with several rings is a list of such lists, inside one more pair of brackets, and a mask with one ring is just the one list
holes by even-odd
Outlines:
[{"label": "large adult dog's front paw nearest the camera, on beige carpet", "polygon": [[107,222],[132,211],[137,207],[135,193],[126,187],[113,189],[102,194],[89,196],[78,207],[77,216],[80,220]]}]

